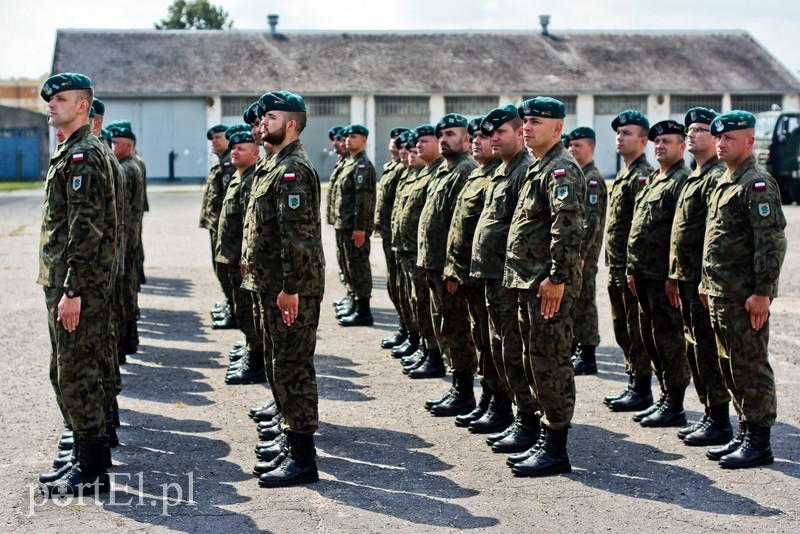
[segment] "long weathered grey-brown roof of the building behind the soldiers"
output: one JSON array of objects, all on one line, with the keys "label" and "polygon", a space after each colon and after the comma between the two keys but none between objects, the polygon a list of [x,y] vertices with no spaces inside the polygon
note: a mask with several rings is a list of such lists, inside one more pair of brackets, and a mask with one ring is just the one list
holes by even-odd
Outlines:
[{"label": "long weathered grey-brown roof of the building behind the soldiers", "polygon": [[800,92],[745,31],[58,30],[70,71],[104,97]]}]

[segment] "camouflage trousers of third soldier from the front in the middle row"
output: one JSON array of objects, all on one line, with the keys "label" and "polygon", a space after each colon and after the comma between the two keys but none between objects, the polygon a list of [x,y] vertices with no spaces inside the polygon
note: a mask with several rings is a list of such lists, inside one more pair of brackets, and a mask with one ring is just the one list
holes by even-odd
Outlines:
[{"label": "camouflage trousers of third soldier from the front in the middle row", "polygon": [[486,308],[486,284],[483,280],[471,279],[458,286],[467,301],[470,334],[478,364],[478,380],[492,391],[505,391],[505,381],[500,378],[492,359],[492,343],[489,339],[489,310]]}]

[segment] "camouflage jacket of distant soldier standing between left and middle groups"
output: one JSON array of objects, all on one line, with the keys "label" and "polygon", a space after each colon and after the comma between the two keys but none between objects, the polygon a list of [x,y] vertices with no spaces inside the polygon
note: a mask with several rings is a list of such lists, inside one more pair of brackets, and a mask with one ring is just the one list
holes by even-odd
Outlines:
[{"label": "camouflage jacket of distant soldier standing between left and middle groups", "polygon": [[359,152],[348,160],[337,184],[339,197],[333,227],[371,234],[375,227],[375,167],[366,152]]}]

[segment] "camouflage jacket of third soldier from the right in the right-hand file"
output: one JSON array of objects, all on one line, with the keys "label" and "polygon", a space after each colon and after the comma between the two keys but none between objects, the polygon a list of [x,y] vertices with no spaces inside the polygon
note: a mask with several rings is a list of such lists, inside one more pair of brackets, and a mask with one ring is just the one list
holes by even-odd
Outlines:
[{"label": "camouflage jacket of third soldier from the right in the right-hand file", "polygon": [[667,279],[672,219],[688,175],[681,158],[663,174],[653,171],[639,192],[628,236],[629,273],[651,280]]}]

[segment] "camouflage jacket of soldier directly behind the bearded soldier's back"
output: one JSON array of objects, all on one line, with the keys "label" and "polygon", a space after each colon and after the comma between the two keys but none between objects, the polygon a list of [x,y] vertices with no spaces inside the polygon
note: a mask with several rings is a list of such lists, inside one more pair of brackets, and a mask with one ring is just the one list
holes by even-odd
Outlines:
[{"label": "camouflage jacket of soldier directly behind the bearded soldier's back", "polygon": [[244,216],[247,213],[247,204],[250,200],[250,189],[253,186],[253,175],[256,163],[240,173],[238,170],[233,175],[225,200],[222,203],[222,213],[219,216],[219,231],[217,232],[216,261],[227,265],[239,265],[242,258],[242,237]]}]

